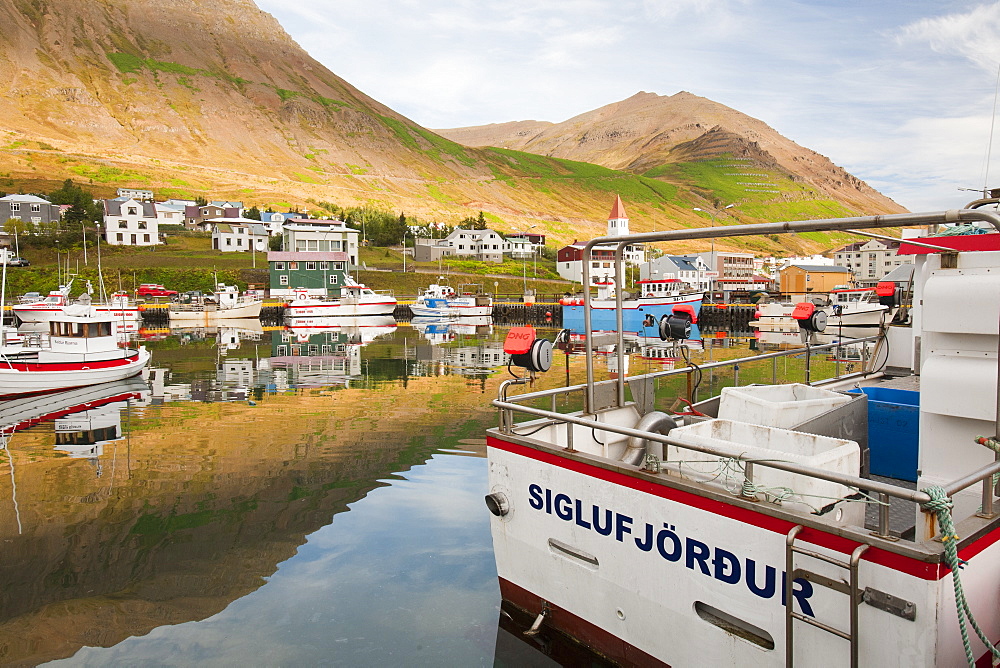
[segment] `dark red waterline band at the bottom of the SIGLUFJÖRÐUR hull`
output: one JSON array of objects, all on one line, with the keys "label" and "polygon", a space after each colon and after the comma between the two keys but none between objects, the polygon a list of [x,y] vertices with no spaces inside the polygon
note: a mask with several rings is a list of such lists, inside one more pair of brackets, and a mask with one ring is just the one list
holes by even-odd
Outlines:
[{"label": "dark red waterline band at the bottom of the SIGLUFJ\u00d6R\u00d0UR hull", "polygon": [[[542,611],[546,601],[523,589],[509,580],[497,578],[500,581],[500,597],[511,605],[524,610],[532,617]],[[549,614],[545,617],[543,627],[560,631],[588,649],[601,654],[622,666],[662,666],[669,668],[656,657],[647,654],[638,647],[630,645],[621,638],[577,617],[572,612],[557,605],[548,604]]]}]

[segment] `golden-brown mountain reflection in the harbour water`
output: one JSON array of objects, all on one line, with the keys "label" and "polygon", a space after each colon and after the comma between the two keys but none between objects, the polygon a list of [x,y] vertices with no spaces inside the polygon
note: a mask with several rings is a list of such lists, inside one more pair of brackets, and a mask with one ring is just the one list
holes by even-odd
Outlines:
[{"label": "golden-brown mountain reflection in the harbour water", "polygon": [[23,534],[4,463],[0,660],[39,663],[204,619],[381,479],[495,419],[459,376],[408,385],[133,407],[100,478],[55,452],[51,425],[15,434]]}]

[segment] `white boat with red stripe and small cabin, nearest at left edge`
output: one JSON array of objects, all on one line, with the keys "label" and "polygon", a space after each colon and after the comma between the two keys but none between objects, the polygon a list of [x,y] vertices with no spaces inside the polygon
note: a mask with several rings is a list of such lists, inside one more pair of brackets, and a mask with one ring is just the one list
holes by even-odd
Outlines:
[{"label": "white boat with red stripe and small cabin, nearest at left edge", "polygon": [[47,335],[0,349],[0,399],[130,378],[149,362],[144,347],[118,344],[115,319],[92,306],[68,306]]}]

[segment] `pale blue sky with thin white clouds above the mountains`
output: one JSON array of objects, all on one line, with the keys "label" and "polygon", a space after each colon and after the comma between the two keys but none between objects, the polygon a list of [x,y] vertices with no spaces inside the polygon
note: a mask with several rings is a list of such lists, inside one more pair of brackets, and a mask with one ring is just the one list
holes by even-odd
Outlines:
[{"label": "pale blue sky with thin white clouds above the mountains", "polygon": [[911,211],[1000,187],[1000,2],[257,0],[428,128],[559,122],[639,91],[758,118]]}]

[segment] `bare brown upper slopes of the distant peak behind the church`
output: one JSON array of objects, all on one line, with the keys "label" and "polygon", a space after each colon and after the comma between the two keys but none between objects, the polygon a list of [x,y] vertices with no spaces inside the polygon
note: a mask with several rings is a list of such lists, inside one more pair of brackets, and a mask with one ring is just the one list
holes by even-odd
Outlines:
[{"label": "bare brown upper slopes of the distant peak behind the church", "polygon": [[[763,121],[712,100],[680,92],[636,93],[561,123],[516,121],[435,130],[466,146],[500,146],[538,155],[657,176],[664,165],[734,158],[741,167],[786,175],[831,198],[872,213],[904,209],[826,157],[783,137]],[[751,182],[767,188],[774,174]],[[756,188],[756,189],[754,189]]]}]

